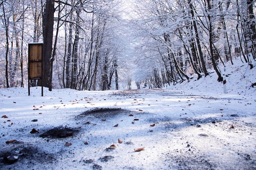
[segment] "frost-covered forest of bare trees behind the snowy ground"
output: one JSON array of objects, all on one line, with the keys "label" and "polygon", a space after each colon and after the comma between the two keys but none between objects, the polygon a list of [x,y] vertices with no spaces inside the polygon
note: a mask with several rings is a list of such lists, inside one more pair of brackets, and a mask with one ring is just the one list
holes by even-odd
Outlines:
[{"label": "frost-covered forest of bare trees behind the snowy ground", "polygon": [[[0,88],[164,88],[256,60],[254,0],[1,0]],[[43,42],[44,79],[28,78]]]}]

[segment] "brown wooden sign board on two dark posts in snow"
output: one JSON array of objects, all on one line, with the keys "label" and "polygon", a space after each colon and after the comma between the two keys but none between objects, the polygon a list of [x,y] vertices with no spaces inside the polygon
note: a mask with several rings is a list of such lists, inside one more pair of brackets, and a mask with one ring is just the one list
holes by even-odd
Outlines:
[{"label": "brown wooden sign board on two dark posts in snow", "polygon": [[42,96],[43,96],[43,43],[29,43],[29,95],[30,80],[42,80]]}]

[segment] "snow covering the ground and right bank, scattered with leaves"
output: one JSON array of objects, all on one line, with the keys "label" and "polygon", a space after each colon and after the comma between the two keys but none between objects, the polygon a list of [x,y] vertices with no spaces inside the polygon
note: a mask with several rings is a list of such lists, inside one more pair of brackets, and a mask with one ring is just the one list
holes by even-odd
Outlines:
[{"label": "snow covering the ground and right bank, scattered with leaves", "polygon": [[[0,169],[256,169],[254,72],[227,66],[227,94],[216,73],[166,89],[0,89]],[[61,127],[73,136],[40,137]]]}]

